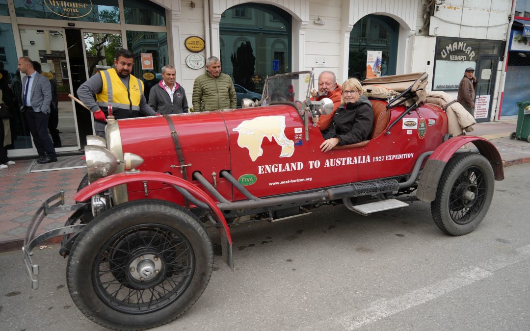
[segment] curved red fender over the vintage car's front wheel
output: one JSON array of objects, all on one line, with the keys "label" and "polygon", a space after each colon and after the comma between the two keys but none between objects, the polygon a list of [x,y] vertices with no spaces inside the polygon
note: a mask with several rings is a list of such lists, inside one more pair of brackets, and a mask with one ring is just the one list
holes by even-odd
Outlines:
[{"label": "curved red fender over the vintage car's front wheel", "polygon": [[[91,199],[93,195],[111,189],[114,186],[138,181],[161,182],[179,186],[182,187],[182,189],[187,190],[191,194],[195,195],[198,199],[204,201],[206,204],[208,204],[208,207],[213,212],[217,221],[223,226],[222,228],[219,228],[221,240],[224,241],[224,243],[222,243],[223,260],[233,270],[232,235],[230,233],[228,223],[226,222],[222,211],[220,211],[215,201],[211,199],[205,192],[201,191],[190,182],[184,181],[182,178],[154,171],[142,171],[134,174],[120,173],[100,178],[94,183],[85,186],[84,189],[77,192],[73,198],[75,201],[86,201]],[[226,240],[224,238],[226,238]]]}]

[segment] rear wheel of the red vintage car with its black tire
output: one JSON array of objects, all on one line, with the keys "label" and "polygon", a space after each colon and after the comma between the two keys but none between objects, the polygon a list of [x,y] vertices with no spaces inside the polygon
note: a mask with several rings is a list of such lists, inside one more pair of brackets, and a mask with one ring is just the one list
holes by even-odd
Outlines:
[{"label": "rear wheel of the red vintage car with its black tire", "polygon": [[461,236],[478,227],[490,208],[494,183],[493,169],[484,156],[463,153],[449,160],[431,202],[438,228]]}]

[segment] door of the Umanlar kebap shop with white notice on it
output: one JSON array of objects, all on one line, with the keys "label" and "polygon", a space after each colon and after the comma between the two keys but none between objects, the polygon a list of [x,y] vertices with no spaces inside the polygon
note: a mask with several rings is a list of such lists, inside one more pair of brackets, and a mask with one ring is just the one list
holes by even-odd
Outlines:
[{"label": "door of the Umanlar kebap shop with white notice on it", "polygon": [[476,65],[475,120],[477,122],[490,120],[497,61],[495,56],[481,56]]}]

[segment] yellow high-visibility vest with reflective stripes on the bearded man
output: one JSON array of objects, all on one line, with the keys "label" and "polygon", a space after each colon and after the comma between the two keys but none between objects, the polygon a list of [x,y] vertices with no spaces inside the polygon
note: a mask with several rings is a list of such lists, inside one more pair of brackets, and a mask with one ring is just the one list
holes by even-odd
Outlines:
[{"label": "yellow high-visibility vest with reflective stripes on the bearded man", "polygon": [[123,85],[118,73],[114,68],[100,71],[103,88],[101,93],[96,94],[96,103],[100,108],[112,108],[140,110],[140,99],[144,94],[142,80],[129,75],[129,88]]}]

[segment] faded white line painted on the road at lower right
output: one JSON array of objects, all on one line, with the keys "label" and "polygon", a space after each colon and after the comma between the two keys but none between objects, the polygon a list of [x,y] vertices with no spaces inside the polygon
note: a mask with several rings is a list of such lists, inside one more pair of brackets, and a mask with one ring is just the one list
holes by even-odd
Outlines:
[{"label": "faded white line painted on the road at lower right", "polygon": [[414,290],[410,293],[392,299],[374,301],[368,308],[351,312],[342,318],[330,318],[322,321],[321,326],[327,329],[355,330],[364,325],[373,323],[401,311],[416,307],[443,296],[449,292],[470,285],[476,281],[487,278],[499,269],[515,264],[530,257],[530,245],[516,249],[513,256],[499,256],[480,263],[478,266],[469,267],[464,271],[428,287]]}]

